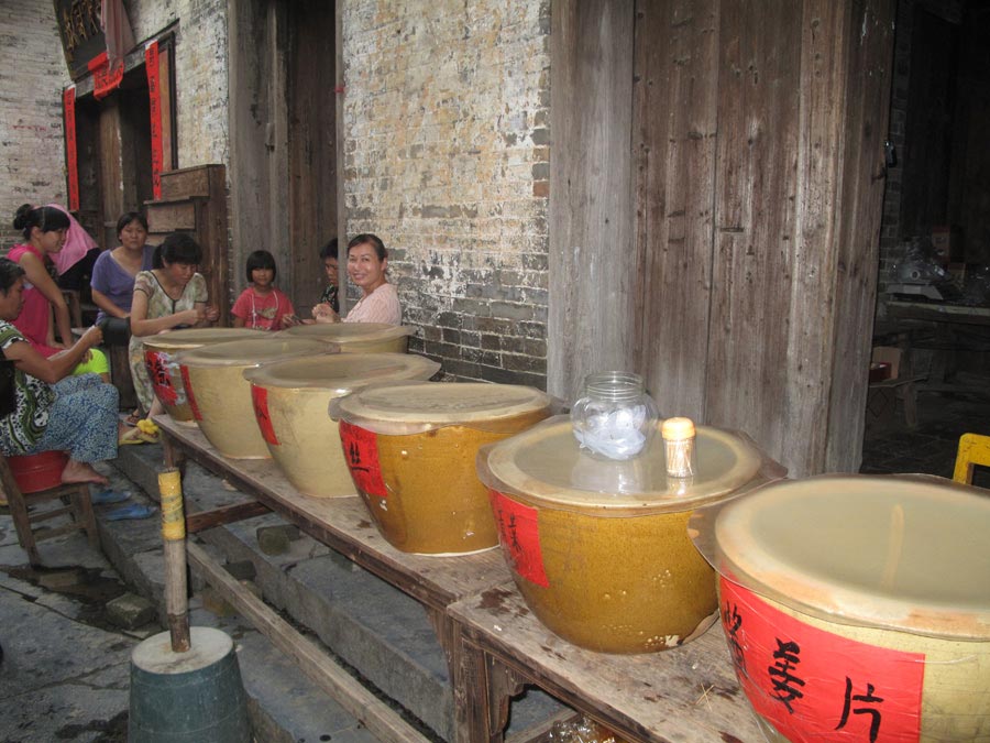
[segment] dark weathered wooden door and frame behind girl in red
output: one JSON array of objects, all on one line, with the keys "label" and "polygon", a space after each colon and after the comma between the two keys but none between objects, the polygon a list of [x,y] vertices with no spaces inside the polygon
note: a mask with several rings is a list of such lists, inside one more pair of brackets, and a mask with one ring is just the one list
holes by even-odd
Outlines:
[{"label": "dark weathered wooden door and frame behind girl in red", "polygon": [[336,3],[229,4],[233,283],[268,250],[306,314],[324,284],[320,245],[338,230]]}]

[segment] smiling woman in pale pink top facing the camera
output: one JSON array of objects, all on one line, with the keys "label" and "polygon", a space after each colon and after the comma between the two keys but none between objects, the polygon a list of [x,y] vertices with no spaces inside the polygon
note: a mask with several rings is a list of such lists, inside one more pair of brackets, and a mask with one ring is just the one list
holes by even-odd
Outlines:
[{"label": "smiling woman in pale pink top facing the camera", "polygon": [[[403,307],[395,286],[388,283],[388,251],[374,234],[359,234],[348,243],[348,276],[361,287],[362,296],[344,323],[386,323],[402,325]],[[327,304],[312,308],[317,323],[340,323],[340,316]]]}]

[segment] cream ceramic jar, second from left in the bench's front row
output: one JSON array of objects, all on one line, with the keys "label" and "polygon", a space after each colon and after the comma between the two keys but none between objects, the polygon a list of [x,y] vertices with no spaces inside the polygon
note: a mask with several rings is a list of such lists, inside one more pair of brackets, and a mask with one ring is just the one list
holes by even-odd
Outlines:
[{"label": "cream ceramic jar, second from left in the bench's front row", "polygon": [[204,436],[224,457],[267,459],[244,370],[267,361],[333,352],[318,340],[274,338],[235,340],[180,351],[176,357],[193,416]]}]

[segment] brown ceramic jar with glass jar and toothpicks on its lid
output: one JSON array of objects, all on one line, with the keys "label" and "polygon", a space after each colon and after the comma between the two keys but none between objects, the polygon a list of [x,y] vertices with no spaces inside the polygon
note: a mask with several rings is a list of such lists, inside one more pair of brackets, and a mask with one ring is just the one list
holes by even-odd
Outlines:
[{"label": "brown ceramic jar with glass jar and toothpicks on its lid", "polygon": [[503,553],[550,630],[593,651],[649,653],[711,626],[715,573],[688,518],[784,470],[741,434],[701,426],[695,444],[686,487],[668,480],[659,436],[635,459],[602,461],[579,448],[564,416],[482,449]]}]

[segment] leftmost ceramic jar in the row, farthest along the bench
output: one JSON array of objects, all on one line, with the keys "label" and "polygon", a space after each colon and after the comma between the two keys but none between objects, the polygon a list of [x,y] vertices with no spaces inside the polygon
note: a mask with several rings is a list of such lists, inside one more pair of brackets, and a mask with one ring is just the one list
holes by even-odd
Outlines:
[{"label": "leftmost ceramic jar in the row, farthest along the bench", "polygon": [[179,373],[175,354],[190,348],[227,343],[232,340],[261,338],[263,330],[249,328],[185,328],[169,330],[144,339],[144,363],[151,378],[155,396],[165,412],[176,423],[195,426],[193,408],[186,397],[186,386]]}]

